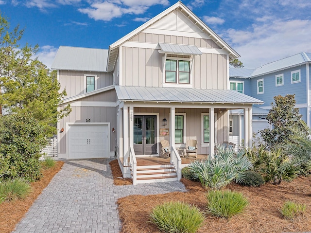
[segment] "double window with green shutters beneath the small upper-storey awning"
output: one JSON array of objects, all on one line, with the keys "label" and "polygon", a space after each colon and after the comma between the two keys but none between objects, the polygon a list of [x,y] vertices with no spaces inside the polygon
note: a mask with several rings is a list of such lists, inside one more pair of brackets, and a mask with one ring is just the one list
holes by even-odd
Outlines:
[{"label": "double window with green shutters beneath the small upper-storey awning", "polygon": [[190,60],[167,58],[165,61],[165,83],[190,84]]}]

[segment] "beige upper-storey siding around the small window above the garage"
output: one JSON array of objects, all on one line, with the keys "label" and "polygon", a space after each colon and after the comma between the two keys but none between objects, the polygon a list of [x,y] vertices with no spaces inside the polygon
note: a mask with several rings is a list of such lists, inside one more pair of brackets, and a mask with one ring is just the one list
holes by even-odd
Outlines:
[{"label": "beige upper-storey siding around the small window above the garage", "polygon": [[96,75],[97,89],[112,85],[112,72],[59,71],[60,90],[65,90],[69,98],[85,93],[85,75]]}]

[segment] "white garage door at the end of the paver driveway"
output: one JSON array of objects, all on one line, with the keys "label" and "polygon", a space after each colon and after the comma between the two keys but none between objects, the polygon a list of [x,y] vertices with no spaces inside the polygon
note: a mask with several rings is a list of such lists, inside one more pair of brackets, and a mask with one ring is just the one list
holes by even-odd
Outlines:
[{"label": "white garage door at the end of the paver driveway", "polygon": [[69,159],[109,157],[108,125],[69,125]]}]

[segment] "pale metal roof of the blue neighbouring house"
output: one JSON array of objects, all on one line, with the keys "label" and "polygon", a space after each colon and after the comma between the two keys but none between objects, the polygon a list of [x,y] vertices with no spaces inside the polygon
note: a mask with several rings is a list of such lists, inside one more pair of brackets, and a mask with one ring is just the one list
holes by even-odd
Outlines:
[{"label": "pale metal roof of the blue neighbouring house", "polygon": [[[229,76],[230,77],[257,77],[271,72],[277,72],[279,70],[284,70],[287,68],[295,67],[307,62],[311,62],[311,53],[300,53],[295,54],[283,59],[262,65],[249,73],[252,69],[244,68],[230,68]],[[238,76],[241,75],[241,76]],[[245,76],[243,76],[245,75]]]}]

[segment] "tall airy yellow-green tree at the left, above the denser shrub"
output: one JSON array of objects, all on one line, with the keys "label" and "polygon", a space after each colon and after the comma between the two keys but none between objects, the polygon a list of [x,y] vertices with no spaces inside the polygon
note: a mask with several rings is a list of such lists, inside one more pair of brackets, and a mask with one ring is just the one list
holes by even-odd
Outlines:
[{"label": "tall airy yellow-green tree at the left, above the denser shrub", "polygon": [[69,114],[70,106],[57,111],[66,90],[59,92],[56,71],[34,58],[37,45],[20,48],[23,32],[19,26],[10,31],[8,20],[0,15],[0,106],[9,113],[32,113],[49,137],[56,133],[57,119]]}]

